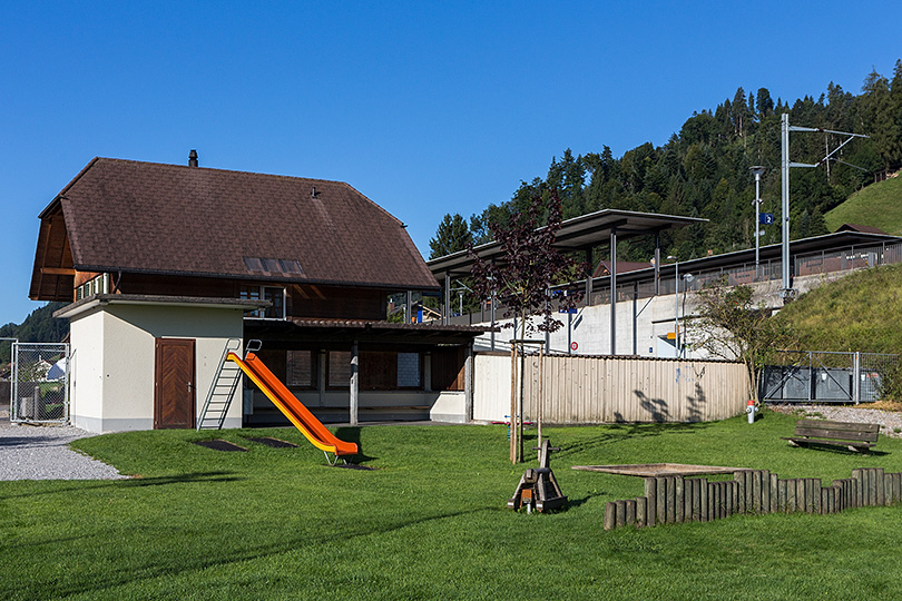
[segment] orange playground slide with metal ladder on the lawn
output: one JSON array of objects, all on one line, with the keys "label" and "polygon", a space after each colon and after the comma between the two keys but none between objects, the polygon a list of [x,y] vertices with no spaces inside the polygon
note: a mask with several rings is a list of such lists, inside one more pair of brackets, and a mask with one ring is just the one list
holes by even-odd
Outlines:
[{"label": "orange playground slide with metal ladder on the lawn", "polygon": [[[254,345],[256,343],[256,345]],[[273,372],[269,371],[266,365],[254,354],[251,348],[254,351],[258,351],[261,347],[259,341],[251,341],[247,345],[247,351],[245,352],[245,357],[242,358],[234,351],[229,349],[228,345],[226,346],[226,351],[224,352],[223,359],[219,365],[219,371],[217,372],[216,378],[214,378],[213,385],[210,386],[210,392],[207,395],[207,402],[204,405],[204,411],[200,414],[200,417],[197,421],[197,430],[200,430],[205,423],[209,421],[208,412],[215,411],[217,414],[220,414],[218,417],[218,427],[222,427],[223,420],[225,418],[225,413],[228,411],[227,402],[223,407],[222,404],[217,405],[215,398],[217,391],[222,388],[226,388],[231,391],[232,394],[228,394],[228,398],[235,392],[237,387],[236,381],[237,376],[234,376],[231,373],[227,373],[224,370],[224,365],[227,362],[234,363],[237,367],[243,372],[251,381],[256,384],[256,386],[266,395],[269,401],[285,415],[285,417],[291,421],[294,426],[301,431],[301,433],[315,446],[316,449],[321,450],[329,463],[333,464],[339,461],[339,457],[345,457],[350,455],[357,454],[357,445],[356,443],[345,442],[337,437],[335,437],[332,432],[326,428],[320,420],[317,420],[307,407],[304,406],[301,401],[297,400],[294,394],[282,383],[278,377],[276,377]],[[241,375],[241,372],[238,375]],[[223,375],[227,374],[227,375]],[[219,382],[220,380],[226,378],[228,380],[225,384]],[[234,378],[234,381],[232,380]],[[332,461],[329,454],[332,453],[335,456],[335,460]]]}]

